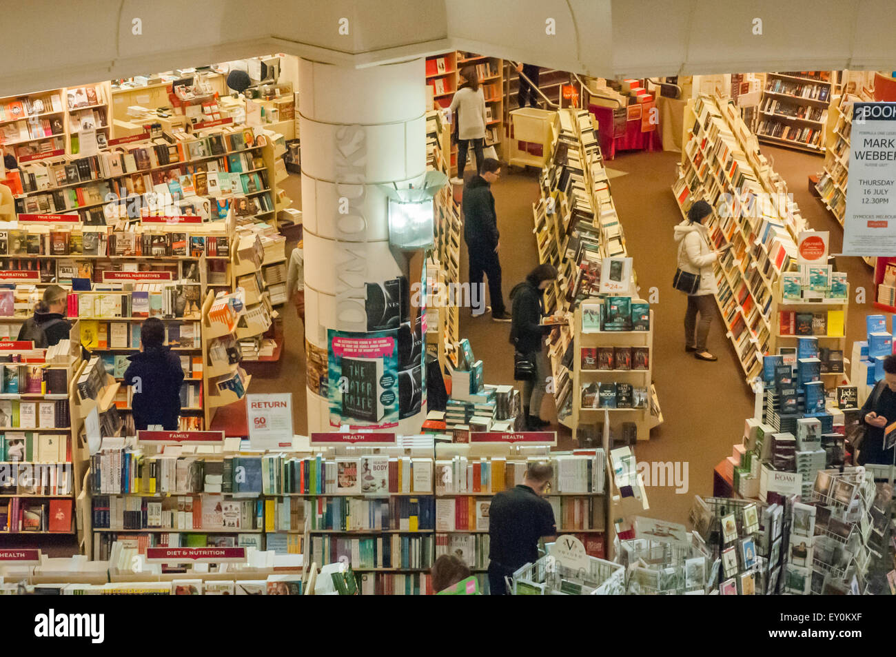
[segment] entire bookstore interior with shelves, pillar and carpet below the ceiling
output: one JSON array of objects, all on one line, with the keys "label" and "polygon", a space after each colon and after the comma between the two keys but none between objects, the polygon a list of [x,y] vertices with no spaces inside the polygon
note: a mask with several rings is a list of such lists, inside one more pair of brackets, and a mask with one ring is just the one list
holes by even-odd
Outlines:
[{"label": "entire bookstore interior with shelves, pillar and carpet below the ceiling", "polygon": [[[533,463],[559,538],[513,594],[896,593],[893,73],[519,64],[0,99],[0,593],[424,595],[443,555],[488,593]],[[468,275],[477,139],[512,324]],[[547,372],[509,340],[538,265]],[[183,376],[142,389],[151,336]]]}]

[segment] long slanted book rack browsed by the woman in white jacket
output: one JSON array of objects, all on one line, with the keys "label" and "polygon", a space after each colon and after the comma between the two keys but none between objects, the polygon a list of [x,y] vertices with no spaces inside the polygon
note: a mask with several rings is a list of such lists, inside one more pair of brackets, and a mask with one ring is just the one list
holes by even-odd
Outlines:
[{"label": "long slanted book rack browsed by the woman in white jacket", "polygon": [[672,192],[685,218],[694,201],[710,203],[711,241],[731,245],[714,264],[716,302],[751,382],[772,339],[775,283],[796,266],[796,240],[806,221],[732,102],[702,94],[688,102],[685,125],[692,127]]}]

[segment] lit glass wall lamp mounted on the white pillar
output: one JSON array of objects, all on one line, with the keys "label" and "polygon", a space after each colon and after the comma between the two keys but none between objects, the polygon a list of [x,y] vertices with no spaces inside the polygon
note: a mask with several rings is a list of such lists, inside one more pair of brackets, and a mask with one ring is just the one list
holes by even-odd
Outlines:
[{"label": "lit glass wall lamp mounted on the white pillar", "polygon": [[383,185],[389,197],[389,244],[408,251],[432,246],[433,197],[447,182],[448,177],[441,171],[427,171],[419,187],[398,189]]}]

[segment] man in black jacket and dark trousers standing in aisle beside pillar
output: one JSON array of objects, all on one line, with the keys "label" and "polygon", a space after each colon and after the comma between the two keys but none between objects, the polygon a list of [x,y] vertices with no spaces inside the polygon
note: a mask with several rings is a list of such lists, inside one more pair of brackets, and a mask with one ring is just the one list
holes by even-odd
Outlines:
[{"label": "man in black jacket and dark trousers standing in aisle beside pillar", "polygon": [[[463,239],[470,255],[470,298],[482,289],[482,274],[488,277],[488,294],[492,299],[492,319],[510,322],[501,295],[501,263],[498,262],[498,222],[491,184],[501,175],[501,163],[494,158],[482,162],[482,171],[470,179],[463,190]],[[484,295],[479,295],[484,302]],[[484,303],[483,303],[484,305]],[[473,316],[483,315],[485,309]]]}]

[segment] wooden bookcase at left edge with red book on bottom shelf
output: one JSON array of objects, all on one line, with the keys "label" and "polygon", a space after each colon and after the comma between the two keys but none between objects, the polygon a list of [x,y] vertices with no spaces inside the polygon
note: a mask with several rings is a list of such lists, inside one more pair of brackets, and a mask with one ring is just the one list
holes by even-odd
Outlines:
[{"label": "wooden bookcase at left edge with red book on bottom shelf", "polygon": [[82,367],[77,338],[49,355],[31,342],[0,341],[0,359],[0,536],[35,535],[39,544],[48,534],[77,533],[82,540],[75,503],[85,463],[79,418],[69,402]]}]

